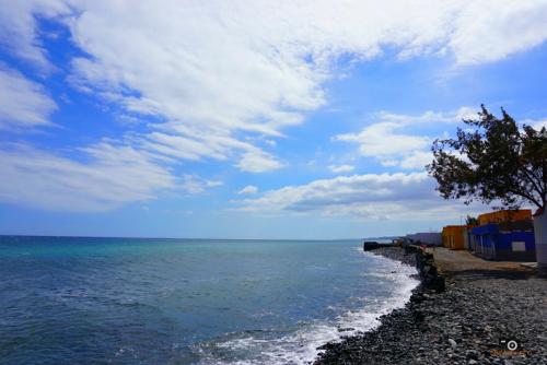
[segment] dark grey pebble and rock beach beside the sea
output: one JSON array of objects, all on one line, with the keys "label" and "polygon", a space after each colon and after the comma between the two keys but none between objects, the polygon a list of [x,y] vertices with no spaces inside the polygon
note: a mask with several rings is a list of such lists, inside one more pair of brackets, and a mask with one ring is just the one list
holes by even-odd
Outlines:
[{"label": "dark grey pebble and rock beach beside the sea", "polygon": [[[375,330],[322,346],[315,365],[547,364],[546,279],[516,272],[439,275],[431,257],[398,247],[373,252],[416,264],[421,284]],[[500,344],[511,339],[520,344],[516,351]]]}]

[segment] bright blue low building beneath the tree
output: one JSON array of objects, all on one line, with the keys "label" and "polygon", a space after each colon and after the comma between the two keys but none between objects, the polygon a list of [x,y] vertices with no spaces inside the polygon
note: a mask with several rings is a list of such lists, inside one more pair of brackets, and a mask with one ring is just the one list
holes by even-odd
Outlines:
[{"label": "bright blue low building beneath the tree", "polygon": [[488,223],[472,228],[474,250],[487,260],[535,261],[532,221]]}]

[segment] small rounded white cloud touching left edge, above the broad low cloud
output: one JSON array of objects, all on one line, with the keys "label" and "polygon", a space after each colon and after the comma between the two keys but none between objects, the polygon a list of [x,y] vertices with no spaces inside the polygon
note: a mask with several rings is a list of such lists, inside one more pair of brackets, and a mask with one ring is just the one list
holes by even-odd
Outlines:
[{"label": "small rounded white cloud touching left edge, above the broad low cloud", "polygon": [[39,84],[0,63],[0,129],[51,125],[57,105]]}]

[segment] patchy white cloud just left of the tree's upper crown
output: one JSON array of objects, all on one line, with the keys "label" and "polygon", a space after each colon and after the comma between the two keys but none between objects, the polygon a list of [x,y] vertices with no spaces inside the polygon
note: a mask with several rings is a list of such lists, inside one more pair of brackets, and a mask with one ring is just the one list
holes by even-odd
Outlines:
[{"label": "patchy white cloud just left of the tree's upper crown", "polygon": [[399,166],[405,169],[423,169],[431,162],[429,152],[433,138],[411,133],[408,129],[417,126],[453,123],[462,119],[476,118],[473,108],[461,107],[455,111],[426,111],[418,116],[380,111],[373,116],[377,120],[358,133],[338,134],[334,141],[359,144],[362,156],[377,158],[384,166]]}]

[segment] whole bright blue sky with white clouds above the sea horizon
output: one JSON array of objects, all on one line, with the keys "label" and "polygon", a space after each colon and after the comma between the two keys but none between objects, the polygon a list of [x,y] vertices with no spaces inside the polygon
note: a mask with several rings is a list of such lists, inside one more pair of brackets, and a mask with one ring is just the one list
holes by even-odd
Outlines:
[{"label": "whole bright blue sky with white clouds above the sea horizon", "polygon": [[547,125],[547,1],[0,0],[0,234],[439,231],[484,103]]}]

